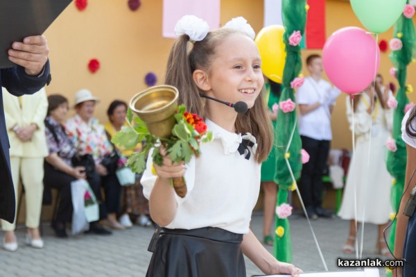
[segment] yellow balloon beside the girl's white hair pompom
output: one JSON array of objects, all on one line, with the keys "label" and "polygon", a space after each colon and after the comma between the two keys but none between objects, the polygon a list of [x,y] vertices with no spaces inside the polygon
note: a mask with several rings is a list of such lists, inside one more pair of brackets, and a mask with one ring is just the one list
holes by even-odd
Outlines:
[{"label": "yellow balloon beside the girl's white hair pompom", "polygon": [[283,26],[271,25],[262,28],[254,39],[259,48],[263,74],[277,83],[283,81],[283,69],[286,61],[283,33]]}]

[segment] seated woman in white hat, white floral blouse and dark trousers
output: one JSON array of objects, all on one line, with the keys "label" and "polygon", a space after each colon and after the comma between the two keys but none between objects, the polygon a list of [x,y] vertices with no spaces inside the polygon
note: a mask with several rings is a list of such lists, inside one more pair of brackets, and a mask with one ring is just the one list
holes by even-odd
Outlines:
[{"label": "seated woman in white hat, white floral blouse and dark trousers", "polygon": [[[98,101],[98,98],[93,96],[89,90],[83,89],[77,92],[74,105],[76,115],[68,119],[66,126],[68,136],[75,145],[78,154],[88,153],[94,158],[96,171],[105,192],[105,205],[102,205],[105,212],[100,213],[100,219],[106,218],[105,224],[110,228],[123,230],[124,227],[116,218],[120,210],[121,193],[121,185],[115,174],[118,160],[112,162],[111,165],[107,163],[103,165],[105,160],[110,157],[113,147],[105,135],[104,127],[94,118],[94,110]],[[94,191],[94,193],[101,199],[100,190]]]}]

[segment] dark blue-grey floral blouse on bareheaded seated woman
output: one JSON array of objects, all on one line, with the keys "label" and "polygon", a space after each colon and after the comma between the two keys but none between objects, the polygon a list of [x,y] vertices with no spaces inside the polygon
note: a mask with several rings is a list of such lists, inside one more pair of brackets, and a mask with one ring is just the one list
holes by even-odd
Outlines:
[{"label": "dark blue-grey floral blouse on bareheaded seated woman", "polygon": [[[71,165],[71,158],[75,155],[76,149],[75,146],[73,146],[72,141],[69,140],[67,133],[65,133],[65,127],[53,120],[52,117],[46,117],[45,125],[46,142],[48,144],[49,155],[57,153],[58,156],[67,163],[67,165]],[[55,132],[56,138],[49,129],[48,125],[51,126]]]}]

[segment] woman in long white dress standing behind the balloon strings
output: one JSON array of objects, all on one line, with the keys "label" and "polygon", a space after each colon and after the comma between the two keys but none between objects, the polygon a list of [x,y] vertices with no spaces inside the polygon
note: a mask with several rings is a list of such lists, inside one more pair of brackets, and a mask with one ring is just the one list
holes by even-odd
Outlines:
[{"label": "woman in long white dress standing behind the balloon strings", "polygon": [[355,251],[357,219],[358,222],[379,226],[376,252],[381,255],[390,254],[383,240],[383,230],[392,212],[392,177],[385,166],[385,142],[390,137],[392,126],[392,114],[387,107],[387,99],[388,95],[381,92],[378,85],[376,94],[373,85],[370,85],[363,93],[356,95],[354,106],[349,97],[347,98],[349,128],[354,128],[356,140],[343,203],[338,213],[342,219],[350,220],[349,237],[343,248],[344,253]]}]

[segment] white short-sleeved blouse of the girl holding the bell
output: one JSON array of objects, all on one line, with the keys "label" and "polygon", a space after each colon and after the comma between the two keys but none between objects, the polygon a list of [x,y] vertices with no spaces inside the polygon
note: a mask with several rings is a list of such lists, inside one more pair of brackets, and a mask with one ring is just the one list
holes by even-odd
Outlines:
[{"label": "white short-sleeved blouse of the girl holding the bell", "polygon": [[[200,156],[186,165],[187,196],[176,196],[177,212],[166,228],[217,227],[246,234],[260,189],[261,164],[254,159],[256,139],[250,133],[230,133],[209,119],[205,121],[214,140],[201,143]],[[237,151],[243,138],[254,142],[249,160]],[[152,159],[148,158],[141,178],[147,199],[157,178],[151,167]]]}]

